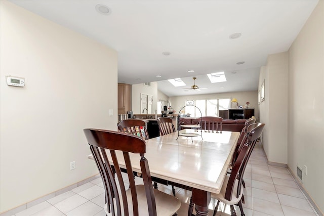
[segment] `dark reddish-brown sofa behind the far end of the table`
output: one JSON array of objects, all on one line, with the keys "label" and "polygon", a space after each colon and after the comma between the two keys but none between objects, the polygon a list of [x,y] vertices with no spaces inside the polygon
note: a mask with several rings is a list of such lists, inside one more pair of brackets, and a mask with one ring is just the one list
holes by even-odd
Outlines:
[{"label": "dark reddish-brown sofa behind the far end of the table", "polygon": [[[180,117],[179,121],[181,127],[181,124],[197,124],[200,121],[200,118]],[[241,132],[245,122],[246,119],[224,119],[222,131]]]}]

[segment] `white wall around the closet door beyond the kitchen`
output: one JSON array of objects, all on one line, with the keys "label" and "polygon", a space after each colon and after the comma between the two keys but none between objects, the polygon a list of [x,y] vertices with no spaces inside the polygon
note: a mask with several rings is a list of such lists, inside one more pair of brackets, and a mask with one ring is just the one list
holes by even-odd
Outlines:
[{"label": "white wall around the closet door beyond the kitchen", "polygon": [[142,114],[141,94],[153,96],[153,113],[148,114],[154,114],[157,104],[157,82],[151,82],[150,87],[144,85],[143,83],[132,85],[132,109],[134,115]]}]

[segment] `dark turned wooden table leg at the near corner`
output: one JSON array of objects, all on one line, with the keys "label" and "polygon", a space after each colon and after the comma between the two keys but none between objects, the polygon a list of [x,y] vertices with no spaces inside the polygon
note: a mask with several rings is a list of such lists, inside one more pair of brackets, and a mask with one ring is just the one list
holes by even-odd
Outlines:
[{"label": "dark turned wooden table leg at the near corner", "polygon": [[208,215],[208,205],[211,201],[211,193],[199,189],[192,189],[192,202],[196,216]]}]

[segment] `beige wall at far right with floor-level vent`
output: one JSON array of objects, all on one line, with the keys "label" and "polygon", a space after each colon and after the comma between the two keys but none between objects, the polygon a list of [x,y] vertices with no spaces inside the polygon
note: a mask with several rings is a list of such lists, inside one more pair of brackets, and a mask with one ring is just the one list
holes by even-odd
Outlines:
[{"label": "beige wall at far right with floor-level vent", "polygon": [[[324,212],[324,1],[288,51],[288,166]],[[307,166],[307,175],[305,166]]]}]

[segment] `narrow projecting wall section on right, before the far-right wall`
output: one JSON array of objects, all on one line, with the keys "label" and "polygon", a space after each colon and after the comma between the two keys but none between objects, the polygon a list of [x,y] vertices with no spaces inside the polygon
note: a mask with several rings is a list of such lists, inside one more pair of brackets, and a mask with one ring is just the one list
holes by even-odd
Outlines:
[{"label": "narrow projecting wall section on right, before the far-right wall", "polygon": [[265,123],[262,142],[269,162],[287,164],[288,130],[287,52],[268,56],[260,70],[259,89],[265,83],[265,100],[260,103],[260,121]]}]

